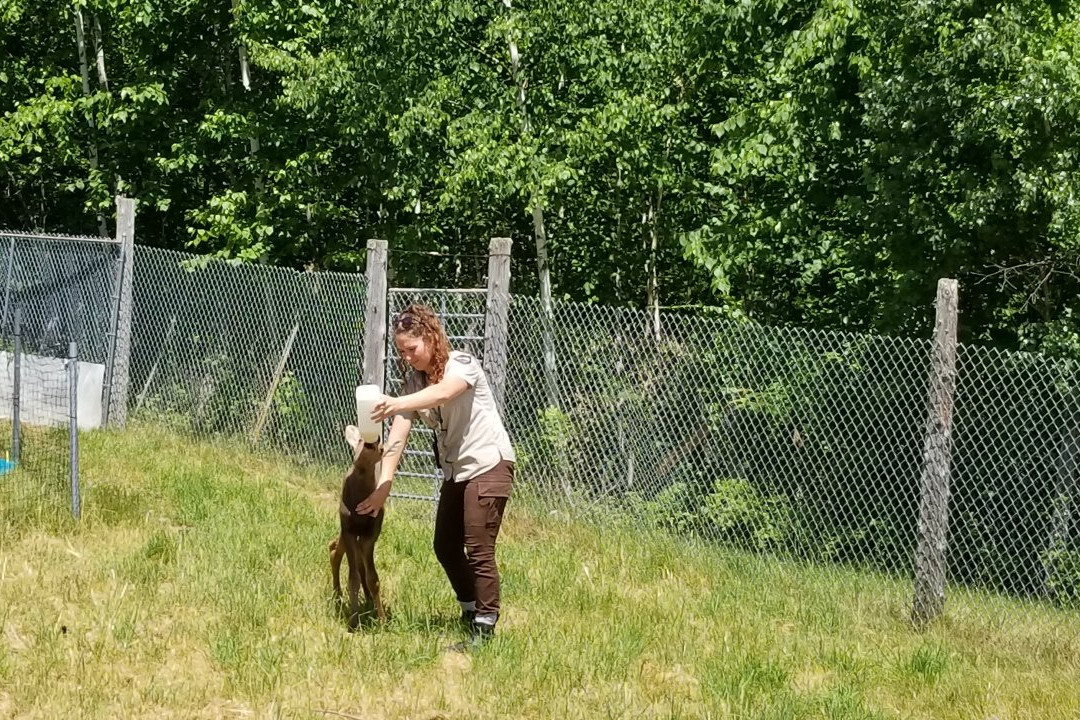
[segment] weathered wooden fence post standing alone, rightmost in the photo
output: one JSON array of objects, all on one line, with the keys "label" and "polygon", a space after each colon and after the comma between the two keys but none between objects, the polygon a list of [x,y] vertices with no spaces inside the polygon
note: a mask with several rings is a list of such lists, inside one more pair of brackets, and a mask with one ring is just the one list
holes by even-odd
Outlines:
[{"label": "weathered wooden fence post standing alone, rightmost in the photo", "polygon": [[919,543],[915,553],[912,622],[926,627],[945,608],[948,569],[948,501],[956,391],[957,282],[937,282],[937,316],[930,370],[927,431],[922,449]]}]

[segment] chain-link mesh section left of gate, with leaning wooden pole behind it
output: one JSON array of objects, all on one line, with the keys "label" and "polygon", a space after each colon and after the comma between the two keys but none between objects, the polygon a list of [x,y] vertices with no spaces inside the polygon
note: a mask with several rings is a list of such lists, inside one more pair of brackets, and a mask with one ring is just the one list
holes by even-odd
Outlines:
[{"label": "chain-link mesh section left of gate, with leaning wooden pole behind it", "polygon": [[137,247],[132,412],[298,461],[347,460],[367,284]]}]

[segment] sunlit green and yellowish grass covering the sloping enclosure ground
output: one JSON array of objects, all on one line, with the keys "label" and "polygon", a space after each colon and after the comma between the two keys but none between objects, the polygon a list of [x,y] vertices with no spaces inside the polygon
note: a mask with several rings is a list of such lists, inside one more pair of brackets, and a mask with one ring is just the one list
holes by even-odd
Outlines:
[{"label": "sunlit green and yellowish grass covering the sloping enclosure ground", "polygon": [[459,655],[429,504],[392,501],[391,617],[349,633],[326,553],[341,468],[146,426],[86,435],[82,466],[81,522],[0,505],[0,717],[1080,717],[1075,613],[963,596],[920,634],[901,581],[517,500],[499,636]]}]

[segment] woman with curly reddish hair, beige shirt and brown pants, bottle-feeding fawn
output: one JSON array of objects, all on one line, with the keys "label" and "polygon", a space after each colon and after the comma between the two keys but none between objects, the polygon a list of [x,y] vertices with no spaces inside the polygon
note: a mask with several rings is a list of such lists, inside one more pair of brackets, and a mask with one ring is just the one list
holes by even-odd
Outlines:
[{"label": "woman with curly reddish hair, beige shirt and brown pants, bottle-feeding fawn", "polygon": [[394,345],[411,367],[400,397],[383,395],[372,419],[393,418],[375,491],[356,506],[375,515],[390,494],[409,430],[417,419],[435,431],[444,483],[435,513],[435,557],[450,581],[469,644],[495,634],[499,569],[495,541],[514,479],[514,448],[480,362],[451,351],[431,308],[411,304],[393,320]]}]

